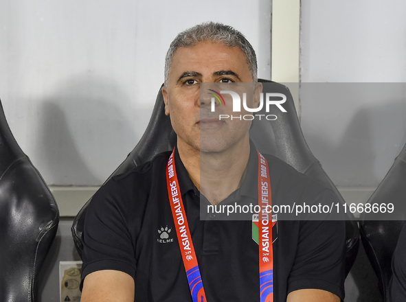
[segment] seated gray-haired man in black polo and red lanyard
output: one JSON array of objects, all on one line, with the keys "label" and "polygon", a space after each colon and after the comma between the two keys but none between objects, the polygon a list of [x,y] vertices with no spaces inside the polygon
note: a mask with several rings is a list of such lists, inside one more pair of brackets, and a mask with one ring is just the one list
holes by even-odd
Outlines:
[{"label": "seated gray-haired man in black polo and red lanyard", "polygon": [[[271,252],[260,259],[253,222],[200,219],[202,202],[222,205],[245,196],[258,205],[264,191],[279,204],[337,202],[286,163],[258,154],[249,141],[250,122],[219,120],[209,109],[211,97],[201,97],[203,83],[251,83],[247,102],[255,108],[262,91],[256,73],[255,52],[232,27],[203,23],[174,39],[162,93],[177,146],[114,177],[93,197],[84,229],[82,301],[343,299],[343,222],[280,221],[278,234],[269,234]],[[263,249],[267,242],[260,240]],[[265,274],[273,280],[262,281],[264,271],[273,271]]]}]

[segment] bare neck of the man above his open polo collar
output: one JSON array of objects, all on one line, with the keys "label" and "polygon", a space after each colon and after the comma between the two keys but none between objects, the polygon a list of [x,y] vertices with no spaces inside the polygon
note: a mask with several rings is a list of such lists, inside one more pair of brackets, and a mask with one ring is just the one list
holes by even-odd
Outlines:
[{"label": "bare neck of the man above his open polo collar", "polygon": [[190,179],[212,205],[227,198],[243,183],[249,149],[248,135],[221,152],[200,152],[178,141],[179,156]]}]

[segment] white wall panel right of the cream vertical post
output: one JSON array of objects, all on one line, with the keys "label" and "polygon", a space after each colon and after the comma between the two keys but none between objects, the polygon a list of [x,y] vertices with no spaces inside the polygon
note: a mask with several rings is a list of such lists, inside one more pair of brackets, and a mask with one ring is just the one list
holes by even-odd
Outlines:
[{"label": "white wall panel right of the cream vertical post", "polygon": [[406,82],[406,1],[302,1],[301,26],[308,145],[336,185],[374,187],[406,143],[405,84],[388,84]]}]

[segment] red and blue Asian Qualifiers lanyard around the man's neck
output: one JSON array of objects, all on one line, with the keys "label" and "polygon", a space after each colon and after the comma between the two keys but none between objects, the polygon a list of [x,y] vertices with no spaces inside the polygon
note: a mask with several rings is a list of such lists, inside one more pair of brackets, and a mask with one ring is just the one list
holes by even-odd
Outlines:
[{"label": "red and blue Asian Qualifiers lanyard around the man's neck", "polygon": [[[174,166],[174,150],[166,168],[166,184],[193,302],[207,302]],[[272,219],[269,220],[269,213],[266,211],[272,206],[271,181],[267,159],[260,152],[258,152],[258,205],[262,209],[259,213],[260,301],[273,302]]]}]

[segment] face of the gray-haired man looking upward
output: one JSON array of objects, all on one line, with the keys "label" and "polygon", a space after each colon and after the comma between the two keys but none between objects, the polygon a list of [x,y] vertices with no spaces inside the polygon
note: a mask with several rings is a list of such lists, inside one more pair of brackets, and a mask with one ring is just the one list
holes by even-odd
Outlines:
[{"label": "face of the gray-haired man looking upward", "polygon": [[[202,152],[221,152],[247,140],[251,122],[238,119],[219,120],[220,112],[232,115],[230,95],[224,95],[227,106],[217,106],[216,112],[212,112],[211,95],[202,93],[205,97],[201,97],[199,91],[203,82],[218,85],[252,82],[243,51],[239,47],[228,47],[212,41],[177,49],[172,58],[167,86],[162,93],[165,113],[170,115],[179,147],[185,146]],[[260,85],[257,85],[256,90],[258,86]],[[260,88],[262,90],[262,86]],[[256,95],[259,102],[259,92]],[[250,107],[252,106],[251,104]],[[244,115],[244,112],[238,113],[240,114]]]}]

